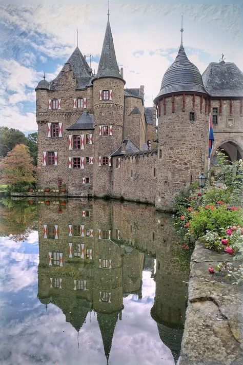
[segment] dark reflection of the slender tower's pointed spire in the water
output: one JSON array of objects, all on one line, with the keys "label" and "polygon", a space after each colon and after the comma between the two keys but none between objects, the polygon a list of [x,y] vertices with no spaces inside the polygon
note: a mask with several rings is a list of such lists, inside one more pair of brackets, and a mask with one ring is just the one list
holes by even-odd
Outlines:
[{"label": "dark reflection of the slender tower's pointed spire in the water", "polygon": [[111,344],[117,319],[118,319],[117,312],[110,314],[97,313],[97,320],[99,324],[100,333],[102,334],[102,340],[107,363],[110,356]]}]

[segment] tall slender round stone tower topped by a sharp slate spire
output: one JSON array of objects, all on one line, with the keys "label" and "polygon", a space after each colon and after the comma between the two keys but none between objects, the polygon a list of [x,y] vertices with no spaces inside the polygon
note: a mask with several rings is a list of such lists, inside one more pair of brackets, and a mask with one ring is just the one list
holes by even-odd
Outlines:
[{"label": "tall slender round stone tower topped by a sharp slate spire", "polygon": [[93,83],[94,108],[94,195],[111,194],[111,155],[123,139],[124,84],[116,62],[108,22],[97,74]]}]

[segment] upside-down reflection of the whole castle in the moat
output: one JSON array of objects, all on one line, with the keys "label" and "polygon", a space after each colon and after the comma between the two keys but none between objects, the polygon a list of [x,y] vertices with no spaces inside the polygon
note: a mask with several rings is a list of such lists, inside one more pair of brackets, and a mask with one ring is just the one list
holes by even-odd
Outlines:
[{"label": "upside-down reflection of the whole castle in the moat", "polygon": [[101,200],[71,200],[62,208],[38,204],[38,215],[39,300],[62,309],[76,331],[94,310],[108,360],[123,297],[141,298],[143,268],[153,274],[156,257],[151,316],[177,359],[187,302],[182,281],[188,273],[172,259],[178,244],[168,217],[156,216],[150,206]]}]

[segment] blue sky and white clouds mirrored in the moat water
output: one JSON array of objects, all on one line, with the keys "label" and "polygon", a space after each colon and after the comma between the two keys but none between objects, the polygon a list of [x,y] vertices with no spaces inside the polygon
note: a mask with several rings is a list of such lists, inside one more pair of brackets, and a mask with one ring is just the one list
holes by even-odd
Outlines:
[{"label": "blue sky and white clouds mirrored in the moat water", "polygon": [[[43,362],[69,365],[106,364],[102,336],[94,312],[77,332],[54,304],[37,299],[37,232],[25,242],[0,239],[1,314],[0,363]],[[117,321],[109,364],[174,364],[170,350],[161,342],[156,322],[150,316],[155,282],[143,272],[143,298],[124,298],[122,321]]]}]

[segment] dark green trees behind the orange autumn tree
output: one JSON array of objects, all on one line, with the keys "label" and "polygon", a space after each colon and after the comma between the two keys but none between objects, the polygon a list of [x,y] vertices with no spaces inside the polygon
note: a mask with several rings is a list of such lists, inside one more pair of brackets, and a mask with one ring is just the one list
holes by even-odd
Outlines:
[{"label": "dark green trees behind the orange autumn tree", "polygon": [[0,156],[5,157],[16,144],[27,144],[24,133],[18,129],[0,127]]}]

